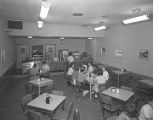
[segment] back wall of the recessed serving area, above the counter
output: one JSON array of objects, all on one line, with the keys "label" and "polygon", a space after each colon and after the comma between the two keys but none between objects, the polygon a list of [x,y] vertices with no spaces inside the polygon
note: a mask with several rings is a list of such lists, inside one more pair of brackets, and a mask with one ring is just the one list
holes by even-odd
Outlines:
[{"label": "back wall of the recessed serving area, above the counter", "polygon": [[86,51],[85,38],[84,39],[83,38],[82,39],[81,38],[80,39],[66,38],[64,44],[62,44],[61,40],[57,38],[32,38],[32,39],[15,38],[15,40],[16,40],[16,44],[28,44],[30,45],[30,48],[32,45],[44,45],[44,51],[45,51],[45,44],[55,44],[56,56],[58,55],[58,49],[69,49],[69,51],[79,51],[80,53]]}]

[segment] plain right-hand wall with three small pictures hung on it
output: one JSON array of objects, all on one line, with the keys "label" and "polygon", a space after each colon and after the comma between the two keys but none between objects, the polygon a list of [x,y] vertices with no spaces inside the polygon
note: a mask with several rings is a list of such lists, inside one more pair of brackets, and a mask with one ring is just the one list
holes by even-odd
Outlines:
[{"label": "plain right-hand wall with three small pictures hung on it", "polygon": [[[153,77],[153,22],[114,27],[105,32],[105,39],[94,41],[96,61]],[[100,47],[106,47],[100,55]],[[115,49],[123,50],[123,57],[115,57]],[[149,50],[149,59],[138,57],[140,49]]]}]

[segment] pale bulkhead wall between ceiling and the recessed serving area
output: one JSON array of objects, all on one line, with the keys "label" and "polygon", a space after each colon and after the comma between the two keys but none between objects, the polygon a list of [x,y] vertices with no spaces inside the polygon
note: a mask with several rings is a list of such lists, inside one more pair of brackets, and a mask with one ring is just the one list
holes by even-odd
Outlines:
[{"label": "pale bulkhead wall between ceiling and the recessed serving area", "polygon": [[10,30],[13,36],[41,36],[41,37],[102,37],[103,31],[95,32],[94,27],[82,27],[78,25],[47,24],[38,29],[35,23],[23,23],[22,30]]}]

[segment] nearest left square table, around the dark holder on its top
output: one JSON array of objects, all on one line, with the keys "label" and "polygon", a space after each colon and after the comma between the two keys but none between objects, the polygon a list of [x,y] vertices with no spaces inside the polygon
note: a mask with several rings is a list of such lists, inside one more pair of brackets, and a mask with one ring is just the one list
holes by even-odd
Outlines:
[{"label": "nearest left square table, around the dark holder on its top", "polygon": [[[49,104],[46,103],[46,97],[48,96],[52,98],[52,101]],[[63,105],[64,109],[65,99],[66,96],[43,93],[34,100],[30,101],[27,105],[34,109],[45,110],[50,112],[50,119],[52,120],[53,114],[60,105]]]}]

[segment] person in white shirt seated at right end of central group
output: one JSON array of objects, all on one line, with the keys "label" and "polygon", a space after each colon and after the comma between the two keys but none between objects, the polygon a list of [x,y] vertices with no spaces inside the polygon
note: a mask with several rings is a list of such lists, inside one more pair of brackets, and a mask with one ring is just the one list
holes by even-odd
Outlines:
[{"label": "person in white shirt seated at right end of central group", "polygon": [[95,77],[96,84],[93,86],[95,97],[97,97],[97,93],[99,92],[99,85],[104,85],[103,87],[105,89],[105,84],[109,79],[109,73],[106,71],[105,67],[103,67],[102,69],[103,73],[99,73],[99,75]]}]

